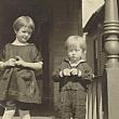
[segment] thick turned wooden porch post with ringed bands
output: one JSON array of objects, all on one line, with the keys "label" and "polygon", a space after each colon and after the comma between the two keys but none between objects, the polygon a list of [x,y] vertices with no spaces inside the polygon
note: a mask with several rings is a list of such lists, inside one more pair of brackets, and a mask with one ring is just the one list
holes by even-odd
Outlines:
[{"label": "thick turned wooden porch post with ringed bands", "polygon": [[117,0],[105,4],[105,52],[107,63],[104,71],[104,119],[119,119],[119,21]]}]

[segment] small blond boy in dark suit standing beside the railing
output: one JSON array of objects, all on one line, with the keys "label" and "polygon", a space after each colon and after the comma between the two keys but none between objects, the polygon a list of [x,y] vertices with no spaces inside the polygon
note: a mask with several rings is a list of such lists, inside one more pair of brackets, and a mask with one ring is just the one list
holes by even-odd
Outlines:
[{"label": "small blond boy in dark suit standing beside the railing", "polygon": [[70,36],[65,42],[67,58],[53,71],[60,82],[60,119],[85,119],[87,84],[93,72],[84,57],[87,44],[82,37]]}]

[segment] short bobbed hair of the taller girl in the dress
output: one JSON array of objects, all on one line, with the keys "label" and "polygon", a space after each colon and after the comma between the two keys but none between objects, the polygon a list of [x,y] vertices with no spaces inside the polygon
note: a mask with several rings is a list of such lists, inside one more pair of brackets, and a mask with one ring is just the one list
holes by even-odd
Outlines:
[{"label": "short bobbed hair of the taller girl in the dress", "polygon": [[29,16],[19,16],[13,23],[13,28],[15,31],[18,31],[24,26],[29,27],[32,30],[35,30],[35,23],[34,23],[32,18]]}]

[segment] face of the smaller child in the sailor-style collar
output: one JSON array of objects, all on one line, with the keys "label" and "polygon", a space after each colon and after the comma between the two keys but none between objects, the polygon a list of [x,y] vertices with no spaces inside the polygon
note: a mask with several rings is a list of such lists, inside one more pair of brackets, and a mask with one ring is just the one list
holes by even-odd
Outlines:
[{"label": "face of the smaller child in the sailor-style collar", "polygon": [[70,62],[77,63],[81,60],[82,49],[80,45],[71,45],[67,48],[67,53]]}]

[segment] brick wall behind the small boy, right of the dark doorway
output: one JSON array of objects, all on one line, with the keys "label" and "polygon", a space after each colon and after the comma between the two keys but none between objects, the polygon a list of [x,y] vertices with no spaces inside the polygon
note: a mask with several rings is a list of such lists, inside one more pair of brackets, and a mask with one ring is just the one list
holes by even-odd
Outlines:
[{"label": "brick wall behind the small boy, right of the dark doorway", "polygon": [[[50,74],[65,58],[65,40],[71,35],[81,34],[81,1],[80,0],[53,0],[52,1],[53,25],[50,38]],[[54,100],[57,98],[58,83],[53,83]],[[53,96],[53,91],[51,91]],[[54,101],[54,102],[55,102]]]}]

